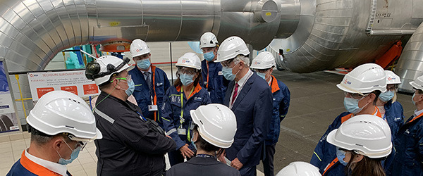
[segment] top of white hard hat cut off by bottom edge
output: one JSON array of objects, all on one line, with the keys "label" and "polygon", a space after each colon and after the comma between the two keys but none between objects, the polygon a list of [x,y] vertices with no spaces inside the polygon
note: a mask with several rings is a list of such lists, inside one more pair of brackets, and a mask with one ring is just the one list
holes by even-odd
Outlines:
[{"label": "top of white hard hat cut off by bottom edge", "polygon": [[321,176],[321,174],[316,166],[302,161],[295,161],[279,171],[276,176]]}]

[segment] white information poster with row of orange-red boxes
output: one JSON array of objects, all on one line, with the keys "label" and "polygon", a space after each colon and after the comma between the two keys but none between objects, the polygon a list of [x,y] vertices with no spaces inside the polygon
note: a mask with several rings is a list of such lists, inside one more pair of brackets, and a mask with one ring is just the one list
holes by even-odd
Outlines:
[{"label": "white information poster with row of orange-red boxes", "polygon": [[80,97],[99,94],[99,87],[92,80],[87,80],[85,70],[63,72],[27,73],[32,101],[54,90],[72,92]]}]

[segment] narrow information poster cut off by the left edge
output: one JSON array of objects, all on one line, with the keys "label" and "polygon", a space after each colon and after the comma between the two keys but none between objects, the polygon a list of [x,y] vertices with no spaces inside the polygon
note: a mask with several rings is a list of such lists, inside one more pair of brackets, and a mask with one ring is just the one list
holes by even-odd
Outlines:
[{"label": "narrow information poster cut off by the left edge", "polygon": [[0,61],[0,133],[18,131],[20,127],[9,83],[6,66],[2,59]]}]

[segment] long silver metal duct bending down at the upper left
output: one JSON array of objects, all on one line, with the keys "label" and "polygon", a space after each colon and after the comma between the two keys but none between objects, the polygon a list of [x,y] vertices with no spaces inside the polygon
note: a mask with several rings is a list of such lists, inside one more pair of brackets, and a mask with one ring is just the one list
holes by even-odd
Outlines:
[{"label": "long silver metal duct bending down at the upper left", "polygon": [[43,70],[71,46],[190,41],[207,31],[220,41],[238,35],[262,49],[295,31],[298,1],[0,0],[0,58],[9,72]]}]

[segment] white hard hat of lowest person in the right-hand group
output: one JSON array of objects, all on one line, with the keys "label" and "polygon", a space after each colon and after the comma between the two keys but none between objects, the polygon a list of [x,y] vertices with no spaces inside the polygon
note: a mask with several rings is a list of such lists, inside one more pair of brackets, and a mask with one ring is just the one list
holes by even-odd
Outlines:
[{"label": "white hard hat of lowest person in the right-hand group", "polygon": [[383,158],[391,153],[391,128],[376,115],[357,115],[328,134],[329,144],[369,158]]}]

